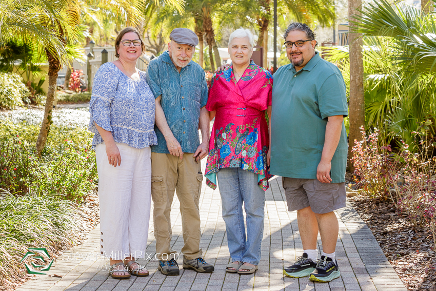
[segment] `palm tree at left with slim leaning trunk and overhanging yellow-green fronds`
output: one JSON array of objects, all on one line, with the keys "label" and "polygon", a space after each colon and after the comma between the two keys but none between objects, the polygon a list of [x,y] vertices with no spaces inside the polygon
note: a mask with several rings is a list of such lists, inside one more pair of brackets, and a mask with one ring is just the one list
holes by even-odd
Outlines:
[{"label": "palm tree at left with slim leaning trunk and overhanging yellow-green fronds", "polygon": [[[171,4],[179,12],[183,9],[183,0],[164,0],[164,3]],[[140,4],[158,6],[160,3],[154,0],[154,2],[140,2]],[[67,44],[74,44],[77,41],[80,34],[78,27],[81,9],[85,6],[104,8],[113,11],[116,15],[122,15],[126,25],[135,25],[141,21],[140,9],[142,7],[137,7],[135,2],[127,0],[83,0],[79,2],[73,0],[56,2],[5,0],[0,4],[0,13],[5,13],[0,17],[6,19],[0,22],[0,42],[11,40],[19,35],[24,41],[39,43],[49,63],[49,89],[44,119],[36,142],[38,156],[41,156],[44,149],[52,123],[51,110],[55,98],[57,74],[63,64],[68,64]]]}]

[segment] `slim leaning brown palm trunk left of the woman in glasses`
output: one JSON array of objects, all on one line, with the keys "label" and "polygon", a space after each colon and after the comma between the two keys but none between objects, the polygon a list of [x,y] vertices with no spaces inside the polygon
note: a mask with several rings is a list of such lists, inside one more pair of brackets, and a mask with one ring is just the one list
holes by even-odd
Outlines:
[{"label": "slim leaning brown palm trunk left of the woman in glasses", "polygon": [[53,56],[48,50],[46,50],[47,60],[48,60],[48,92],[47,101],[44,111],[44,119],[41,124],[41,129],[39,130],[38,140],[36,141],[36,151],[38,157],[41,157],[41,153],[46,145],[47,136],[50,131],[50,125],[53,123],[51,121],[51,110],[53,107],[53,102],[56,94],[56,79],[57,73],[61,69],[61,63],[59,60]]}]

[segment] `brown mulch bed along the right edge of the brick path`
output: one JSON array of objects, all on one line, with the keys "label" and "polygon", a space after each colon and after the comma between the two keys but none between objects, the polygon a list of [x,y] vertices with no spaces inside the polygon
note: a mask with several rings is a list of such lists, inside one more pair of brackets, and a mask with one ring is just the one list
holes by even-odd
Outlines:
[{"label": "brown mulch bed along the right edge of the brick path", "polygon": [[414,226],[391,200],[347,198],[371,229],[408,290],[436,291],[436,256],[430,230]]}]

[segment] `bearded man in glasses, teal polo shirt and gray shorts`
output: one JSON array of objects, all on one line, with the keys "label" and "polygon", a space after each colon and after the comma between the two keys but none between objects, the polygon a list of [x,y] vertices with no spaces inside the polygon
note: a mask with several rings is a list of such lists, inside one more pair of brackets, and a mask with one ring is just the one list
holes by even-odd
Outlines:
[{"label": "bearded man in glasses, teal polo shirt and gray shorts", "polygon": [[304,250],[284,274],[329,282],[340,276],[333,210],[346,200],[346,87],[340,70],[315,52],[315,35],[306,24],[291,23],[284,38],[291,63],[273,75],[270,173],[283,177],[289,211],[298,210]]}]

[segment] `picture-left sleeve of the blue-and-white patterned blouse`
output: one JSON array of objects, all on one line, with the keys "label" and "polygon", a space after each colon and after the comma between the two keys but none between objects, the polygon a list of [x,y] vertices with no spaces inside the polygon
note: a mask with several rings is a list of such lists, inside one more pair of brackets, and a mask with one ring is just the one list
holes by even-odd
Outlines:
[{"label": "picture-left sleeve of the blue-and-white patterned blouse", "polygon": [[98,130],[94,122],[101,128],[112,131],[110,126],[110,107],[118,87],[120,70],[112,63],[103,64],[95,73],[89,112],[91,119],[88,129],[94,133]]}]

